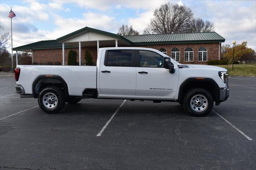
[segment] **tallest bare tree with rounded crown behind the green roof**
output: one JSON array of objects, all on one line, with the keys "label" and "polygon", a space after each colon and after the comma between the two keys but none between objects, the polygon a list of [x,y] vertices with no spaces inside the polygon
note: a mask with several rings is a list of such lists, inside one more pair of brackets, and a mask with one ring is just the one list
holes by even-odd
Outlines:
[{"label": "tallest bare tree with rounded crown behind the green roof", "polygon": [[179,33],[184,30],[184,26],[190,23],[192,19],[193,13],[190,8],[168,2],[154,11],[154,17],[145,28],[144,33],[148,32],[148,30],[155,34]]}]

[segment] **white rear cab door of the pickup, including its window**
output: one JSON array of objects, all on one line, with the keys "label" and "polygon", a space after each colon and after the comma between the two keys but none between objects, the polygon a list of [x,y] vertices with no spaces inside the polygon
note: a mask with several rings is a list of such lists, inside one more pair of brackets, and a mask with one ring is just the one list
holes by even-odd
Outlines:
[{"label": "white rear cab door of the pickup, including its window", "polygon": [[99,70],[99,97],[134,96],[136,90],[135,50],[109,49]]}]

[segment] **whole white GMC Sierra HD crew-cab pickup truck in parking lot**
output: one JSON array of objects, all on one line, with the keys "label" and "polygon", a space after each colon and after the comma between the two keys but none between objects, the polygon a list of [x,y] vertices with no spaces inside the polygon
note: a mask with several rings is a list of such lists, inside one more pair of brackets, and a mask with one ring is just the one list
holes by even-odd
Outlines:
[{"label": "whole white GMC Sierra HD crew-cab pickup truck in parking lot", "polygon": [[38,98],[46,113],[84,98],[178,102],[193,116],[208,114],[229,96],[227,70],[182,65],[156,49],[108,47],[96,66],[17,65],[16,93]]}]

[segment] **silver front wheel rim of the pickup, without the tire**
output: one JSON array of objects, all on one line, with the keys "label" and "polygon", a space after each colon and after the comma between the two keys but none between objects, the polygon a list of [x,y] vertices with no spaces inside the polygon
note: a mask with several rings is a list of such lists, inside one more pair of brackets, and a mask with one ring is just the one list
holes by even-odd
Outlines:
[{"label": "silver front wheel rim of the pickup, without the tire", "polygon": [[190,100],[190,107],[193,111],[202,112],[208,106],[208,100],[204,95],[194,95]]}]

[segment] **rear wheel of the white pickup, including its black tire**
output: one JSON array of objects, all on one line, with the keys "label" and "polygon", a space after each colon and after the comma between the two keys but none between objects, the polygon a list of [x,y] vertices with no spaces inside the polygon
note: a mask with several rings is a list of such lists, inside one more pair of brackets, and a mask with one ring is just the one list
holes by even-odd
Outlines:
[{"label": "rear wheel of the white pickup, including its black tire", "polygon": [[[49,104],[47,102],[48,99],[52,99],[52,102],[54,103]],[[46,113],[59,113],[64,108],[65,104],[66,101],[64,92],[57,87],[46,87],[38,95],[38,105],[42,111]],[[48,105],[48,107],[46,105]],[[50,106],[52,106],[52,108],[49,108]]]}]

